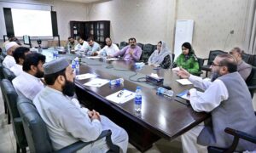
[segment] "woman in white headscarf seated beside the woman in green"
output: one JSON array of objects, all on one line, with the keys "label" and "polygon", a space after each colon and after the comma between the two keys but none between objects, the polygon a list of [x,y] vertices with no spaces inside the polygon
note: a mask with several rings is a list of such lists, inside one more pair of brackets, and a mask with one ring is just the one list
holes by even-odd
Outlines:
[{"label": "woman in white headscarf seated beside the woman in green", "polygon": [[157,43],[157,49],[154,50],[153,54],[148,59],[148,65],[154,67],[162,67],[168,69],[172,64],[172,54],[166,46],[166,42],[160,41]]}]

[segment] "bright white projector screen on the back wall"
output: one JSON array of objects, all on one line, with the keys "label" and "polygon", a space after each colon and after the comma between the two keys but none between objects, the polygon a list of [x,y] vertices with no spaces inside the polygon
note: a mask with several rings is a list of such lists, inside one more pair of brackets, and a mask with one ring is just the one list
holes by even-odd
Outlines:
[{"label": "bright white projector screen on the back wall", "polygon": [[11,8],[15,37],[52,37],[50,11]]}]

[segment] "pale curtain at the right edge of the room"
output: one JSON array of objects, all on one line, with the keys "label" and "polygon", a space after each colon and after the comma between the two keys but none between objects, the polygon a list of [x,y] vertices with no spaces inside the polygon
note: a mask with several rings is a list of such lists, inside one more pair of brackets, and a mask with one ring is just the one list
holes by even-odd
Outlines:
[{"label": "pale curtain at the right edge of the room", "polygon": [[249,0],[249,6],[244,49],[249,54],[256,54],[256,1]]}]

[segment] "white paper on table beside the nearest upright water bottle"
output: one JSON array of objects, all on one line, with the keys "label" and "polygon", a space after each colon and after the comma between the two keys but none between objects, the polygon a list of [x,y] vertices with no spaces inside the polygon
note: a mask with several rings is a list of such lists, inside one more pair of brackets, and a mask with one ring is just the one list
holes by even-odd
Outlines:
[{"label": "white paper on table beside the nearest upright water bottle", "polygon": [[[122,93],[122,94],[120,94]],[[131,99],[135,98],[135,93],[131,92],[129,90],[123,89],[120,90],[114,94],[110,94],[106,97],[106,99],[113,101],[114,103],[117,104],[123,104]]]}]

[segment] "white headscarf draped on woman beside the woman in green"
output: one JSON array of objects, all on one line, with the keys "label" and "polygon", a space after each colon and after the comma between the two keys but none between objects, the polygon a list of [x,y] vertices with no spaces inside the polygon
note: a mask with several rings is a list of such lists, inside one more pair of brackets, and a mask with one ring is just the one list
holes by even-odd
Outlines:
[{"label": "white headscarf draped on woman beside the woman in green", "polygon": [[171,63],[172,63],[172,54],[167,48],[166,42],[164,41],[161,41],[161,42],[162,42],[162,47],[160,48],[160,53],[157,49],[154,50],[154,53],[151,54],[148,59],[148,64],[160,65],[168,54],[170,55]]}]

